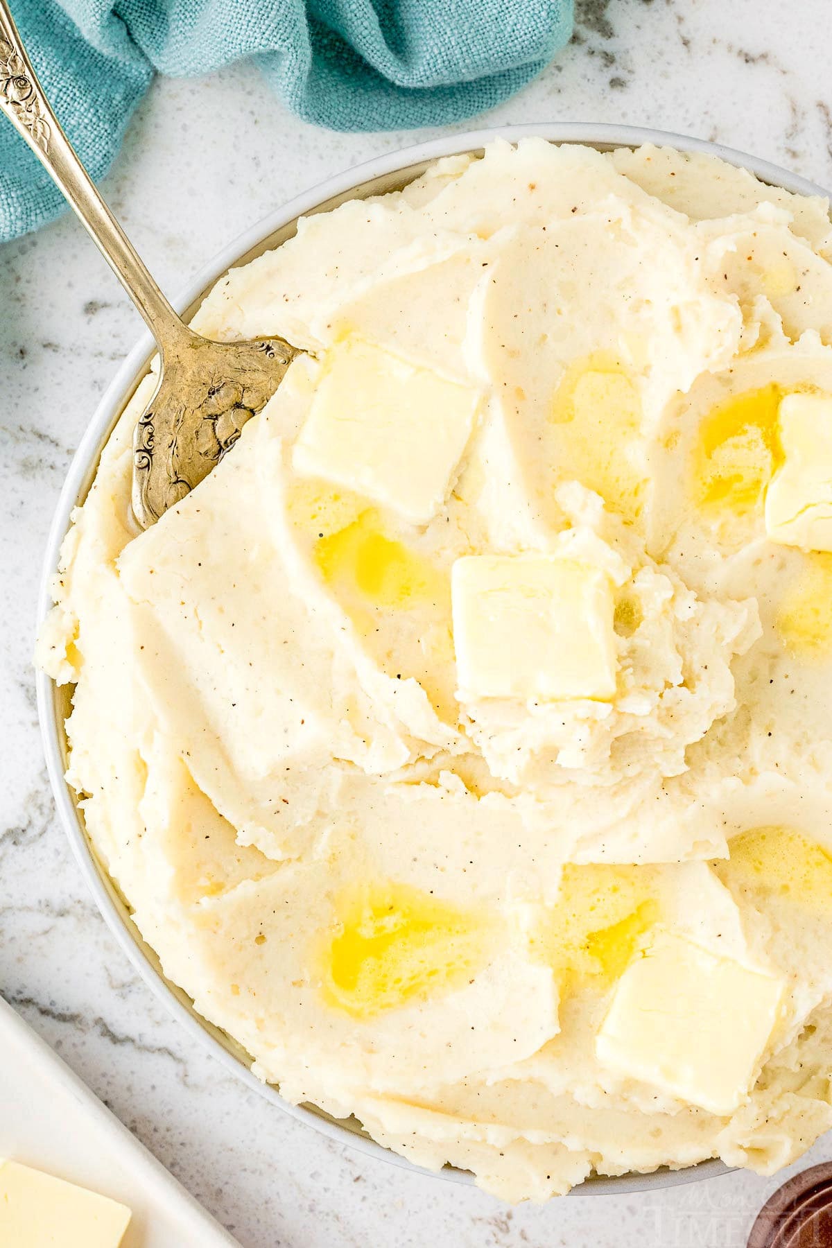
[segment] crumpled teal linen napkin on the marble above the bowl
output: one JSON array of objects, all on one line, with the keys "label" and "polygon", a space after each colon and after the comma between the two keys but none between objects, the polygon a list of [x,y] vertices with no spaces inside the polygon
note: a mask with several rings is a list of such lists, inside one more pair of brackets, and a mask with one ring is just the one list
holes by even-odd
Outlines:
[{"label": "crumpled teal linen napkin on the marble above the bowl", "polygon": [[[156,70],[188,76],[253,56],[304,121],[405,130],[499,104],[544,69],[573,22],[571,0],[12,0],[12,11],[94,178]],[[0,241],[62,208],[0,117]]]}]

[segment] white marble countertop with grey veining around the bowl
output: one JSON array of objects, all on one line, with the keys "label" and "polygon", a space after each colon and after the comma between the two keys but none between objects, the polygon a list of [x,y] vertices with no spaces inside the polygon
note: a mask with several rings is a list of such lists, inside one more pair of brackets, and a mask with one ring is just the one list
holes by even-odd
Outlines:
[{"label": "white marble countertop with grey veining around the bowl", "polygon": [[[826,0],[576,0],[571,45],[481,124],[611,121],[718,140],[832,185]],[[479,122],[474,122],[479,124]],[[458,127],[467,129],[467,127]],[[276,203],[414,134],[291,117],[238,65],[157,81],[105,185],[171,291]],[[506,1208],[277,1112],[193,1043],[100,919],[50,797],[31,650],[41,552],[84,427],[140,319],[70,217],[0,248],[0,992],[244,1248],[737,1248],[776,1181]],[[832,1137],[803,1164],[832,1158]]]}]

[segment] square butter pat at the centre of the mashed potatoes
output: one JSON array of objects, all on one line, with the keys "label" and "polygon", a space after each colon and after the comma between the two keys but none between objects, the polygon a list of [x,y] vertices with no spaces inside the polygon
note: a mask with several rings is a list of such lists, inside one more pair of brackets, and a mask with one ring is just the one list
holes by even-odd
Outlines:
[{"label": "square butter pat at the centre of the mashed potatoes", "polygon": [[465,555],[452,572],[459,696],[611,698],[614,600],[600,568],[554,555]]}]

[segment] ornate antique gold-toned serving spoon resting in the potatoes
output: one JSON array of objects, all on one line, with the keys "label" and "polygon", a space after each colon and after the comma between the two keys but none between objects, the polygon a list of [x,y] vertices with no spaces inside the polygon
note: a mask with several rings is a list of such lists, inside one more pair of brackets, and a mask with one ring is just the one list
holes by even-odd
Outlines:
[{"label": "ornate antique gold-toned serving spoon resting in the potatoes", "polygon": [[81,218],[156,339],[160,379],[133,437],[132,508],[145,529],[208,475],[274,393],[297,348],[282,338],[211,342],[176,314],[61,130],[6,0],[0,0],[0,109]]}]

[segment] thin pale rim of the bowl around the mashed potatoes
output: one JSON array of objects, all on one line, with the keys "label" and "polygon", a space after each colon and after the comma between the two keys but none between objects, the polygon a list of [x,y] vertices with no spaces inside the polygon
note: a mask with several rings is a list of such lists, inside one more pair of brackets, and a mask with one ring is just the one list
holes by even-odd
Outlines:
[{"label": "thin pale rim of the bowl around the mashed potatoes", "polygon": [[[594,122],[524,122],[519,125],[489,126],[459,134],[443,135],[408,147],[385,152],[352,166],[332,177],[293,196],[291,200],[267,213],[248,230],[238,235],[232,242],[221,248],[207,263],[205,263],[193,278],[180,290],[171,303],[177,312],[185,312],[200,300],[207,290],[228,268],[239,263],[248,252],[254,248],[267,250],[267,241],[278,231],[289,227],[294,221],[309,212],[316,211],[322,205],[329,207],[329,201],[347,198],[351,195],[362,193],[362,187],[367,187],[375,180],[395,173],[405,173],[413,166],[435,161],[443,156],[453,156],[484,147],[495,139],[508,142],[518,142],[520,139],[539,137],[549,142],[585,144],[601,150],[614,147],[637,147],[642,144],[655,144],[656,146],[670,146],[682,152],[704,152],[718,156],[730,165],[748,170],[762,182],[782,187],[798,195],[815,195],[828,198],[830,195],[823,187],[808,181],[788,170],[781,168],[771,161],[747,155],[722,144],[711,142],[704,139],[695,139],[671,131],[657,130],[641,126],[619,126]],[[417,176],[415,173],[413,176]],[[364,192],[367,193],[367,192]],[[373,193],[372,191],[369,193]],[[266,246],[264,246],[266,245]],[[279,245],[279,243],[276,243]],[[127,354],[123,363],[117,369],[112,381],[99,399],[95,413],[81,437],[77,451],[72,457],[67,475],[61,487],[61,492],[55,508],[55,514],[46,540],[44,565],[41,573],[40,590],[37,598],[37,619],[40,626],[52,605],[51,583],[57,569],[60,547],[70,528],[71,513],[82,500],[91,478],[97,469],[101,451],[115,426],[119,416],[128,402],[138,381],[147,371],[147,363],[155,352],[152,337],[145,329],[136,342],[136,346]],[[50,786],[60,822],[69,839],[75,860],[81,870],[86,885],[92,894],[95,902],[105,922],[114,934],[121,950],[130,960],[133,970],[153,992],[156,998],[165,1006],[178,1022],[186,1028],[191,1038],[207,1048],[215,1058],[223,1063],[237,1078],[241,1078],[249,1088],[276,1104],[284,1113],[291,1114],[297,1121],[314,1127],[316,1131],[329,1139],[357,1148],[367,1156],[379,1158],[388,1163],[400,1166],[412,1172],[422,1173],[432,1178],[448,1178],[460,1183],[473,1183],[473,1176],[445,1167],[440,1171],[432,1171],[417,1166],[408,1158],[382,1147],[358,1129],[346,1126],[339,1121],[323,1116],[313,1106],[291,1104],[281,1097],[273,1085],[262,1082],[252,1073],[246,1062],[243,1050],[236,1042],[202,1018],[193,1008],[193,1003],[187,993],[167,980],[155,951],[145,942],[138,929],[132,921],[125,900],[117,891],[114,881],[109,876],[106,867],[95,855],[94,847],[87,837],[81,821],[72,792],[64,778],[65,771],[65,735],[64,715],[59,705],[57,686],[55,681],[44,671],[37,670],[35,675],[37,716],[40,721],[41,741],[46,759]],[[574,1188],[570,1194],[605,1194],[612,1193],[622,1196],[630,1192],[652,1191],[664,1187],[672,1187],[682,1183],[699,1182],[718,1174],[726,1174],[730,1168],[718,1159],[709,1159],[696,1164],[669,1169],[661,1167],[657,1171],[641,1173],[630,1172],[621,1176],[591,1176],[583,1184]]]}]

